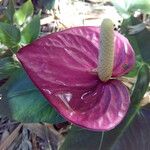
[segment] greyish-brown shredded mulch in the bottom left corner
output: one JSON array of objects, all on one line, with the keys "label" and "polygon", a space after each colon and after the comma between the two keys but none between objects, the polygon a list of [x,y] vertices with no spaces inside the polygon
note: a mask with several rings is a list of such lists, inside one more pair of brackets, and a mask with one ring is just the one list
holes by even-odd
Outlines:
[{"label": "greyish-brown shredded mulch in the bottom left corner", "polygon": [[46,123],[18,123],[0,117],[0,150],[57,150],[64,140],[61,130]]}]

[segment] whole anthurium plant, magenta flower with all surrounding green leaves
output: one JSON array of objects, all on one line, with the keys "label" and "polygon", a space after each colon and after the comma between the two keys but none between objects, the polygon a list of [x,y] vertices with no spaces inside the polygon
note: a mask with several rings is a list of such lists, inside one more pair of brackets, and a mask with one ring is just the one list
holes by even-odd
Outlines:
[{"label": "whole anthurium plant, magenta flower with all surrounding green leaves", "polygon": [[149,13],[150,6],[147,0],[113,3],[125,17],[125,37],[113,34],[105,20],[100,31],[75,27],[41,38],[35,1],[16,9],[10,0],[0,17],[0,115],[21,122],[71,122],[61,150],[148,150],[150,33],[146,27],[132,35],[130,30],[143,23],[134,12]]}]

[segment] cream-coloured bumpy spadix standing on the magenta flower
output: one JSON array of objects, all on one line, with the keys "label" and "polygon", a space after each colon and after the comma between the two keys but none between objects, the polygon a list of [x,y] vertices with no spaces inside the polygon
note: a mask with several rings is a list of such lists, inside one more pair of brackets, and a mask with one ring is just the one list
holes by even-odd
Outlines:
[{"label": "cream-coloured bumpy spadix standing on the magenta flower", "polygon": [[104,19],[100,32],[100,53],[98,58],[98,76],[108,81],[112,76],[114,62],[114,30],[110,19]]}]

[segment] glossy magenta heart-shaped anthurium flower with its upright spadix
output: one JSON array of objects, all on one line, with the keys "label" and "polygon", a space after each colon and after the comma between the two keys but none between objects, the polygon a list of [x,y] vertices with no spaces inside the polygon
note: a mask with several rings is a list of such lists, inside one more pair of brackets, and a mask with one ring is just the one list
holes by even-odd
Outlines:
[{"label": "glossy magenta heart-shaped anthurium flower with its upright spadix", "polygon": [[105,131],[124,118],[130,95],[116,78],[132,69],[135,56],[109,20],[101,29],[74,27],[42,37],[17,57],[50,104],[73,124]]}]

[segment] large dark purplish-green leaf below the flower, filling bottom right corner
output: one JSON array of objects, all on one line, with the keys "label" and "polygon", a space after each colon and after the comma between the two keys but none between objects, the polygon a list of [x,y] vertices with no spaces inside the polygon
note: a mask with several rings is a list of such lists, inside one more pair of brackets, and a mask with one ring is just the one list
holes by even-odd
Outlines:
[{"label": "large dark purplish-green leaf below the flower, filling bottom right corner", "polygon": [[94,132],[73,126],[60,150],[149,150],[150,110],[143,109],[123,136],[112,145],[115,132]]}]

